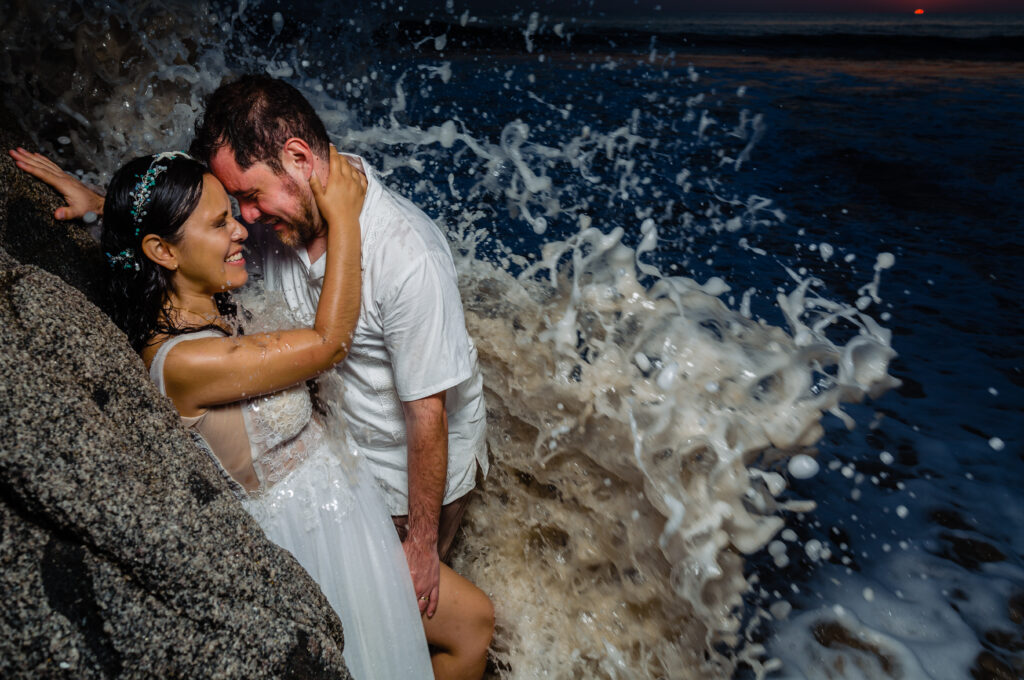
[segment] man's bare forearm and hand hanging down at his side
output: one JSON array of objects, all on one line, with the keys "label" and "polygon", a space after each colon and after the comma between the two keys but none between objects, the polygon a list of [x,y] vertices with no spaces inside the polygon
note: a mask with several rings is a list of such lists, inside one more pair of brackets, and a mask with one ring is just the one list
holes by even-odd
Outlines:
[{"label": "man's bare forearm and hand hanging down at his side", "polygon": [[420,613],[437,610],[440,558],[437,527],[447,479],[447,412],[444,392],[402,401],[409,447],[409,535],[402,548]]}]

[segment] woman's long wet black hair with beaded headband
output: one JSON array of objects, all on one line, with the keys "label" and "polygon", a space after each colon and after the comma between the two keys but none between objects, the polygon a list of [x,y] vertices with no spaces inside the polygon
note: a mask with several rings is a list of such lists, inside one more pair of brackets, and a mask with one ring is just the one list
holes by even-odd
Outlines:
[{"label": "woman's long wet black hair with beaded headband", "polygon": [[[135,351],[155,335],[196,330],[179,325],[170,313],[173,272],[142,254],[141,244],[147,233],[180,243],[181,227],[203,196],[207,172],[184,154],[143,156],[122,166],[108,186],[100,237],[111,265],[105,306]],[[214,299],[222,315],[234,314],[226,293]]]}]

